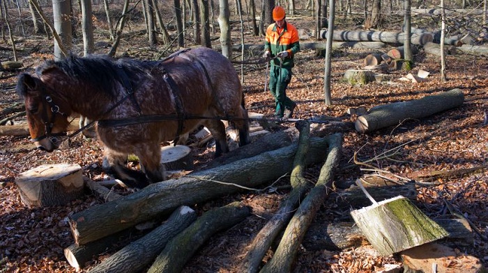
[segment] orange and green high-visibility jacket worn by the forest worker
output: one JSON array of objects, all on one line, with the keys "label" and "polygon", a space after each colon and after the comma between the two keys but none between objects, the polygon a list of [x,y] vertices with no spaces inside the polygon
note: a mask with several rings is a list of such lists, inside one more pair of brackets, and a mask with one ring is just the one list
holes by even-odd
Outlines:
[{"label": "orange and green high-visibility jacket worn by the forest worker", "polygon": [[[274,57],[281,51],[288,51],[287,58],[284,58],[282,67],[293,67],[293,56],[300,51],[300,39],[298,38],[298,31],[295,26],[286,22],[283,29],[278,33],[276,24],[270,24],[266,29],[266,42],[264,43],[264,50],[271,52]],[[275,65],[280,65],[280,60],[273,60]]]}]

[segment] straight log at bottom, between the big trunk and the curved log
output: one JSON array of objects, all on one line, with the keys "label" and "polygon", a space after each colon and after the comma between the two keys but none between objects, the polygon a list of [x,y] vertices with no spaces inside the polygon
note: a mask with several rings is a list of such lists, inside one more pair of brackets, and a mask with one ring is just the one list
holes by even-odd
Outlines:
[{"label": "straight log at bottom, between the big trunk and the curved log", "polygon": [[[141,272],[148,265],[151,265],[169,240],[190,226],[196,219],[197,213],[195,210],[188,206],[181,206],[161,226],[103,260],[102,263],[93,267],[90,273]],[[179,254],[180,256],[188,255],[186,253],[185,255]]]}]

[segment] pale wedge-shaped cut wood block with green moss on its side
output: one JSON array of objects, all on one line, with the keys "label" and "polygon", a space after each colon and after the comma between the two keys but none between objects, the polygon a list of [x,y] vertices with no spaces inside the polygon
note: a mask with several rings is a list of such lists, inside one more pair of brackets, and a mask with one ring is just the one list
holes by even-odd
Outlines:
[{"label": "pale wedge-shaped cut wood block with green moss on its side", "polygon": [[402,196],[352,210],[351,217],[369,243],[384,256],[449,235]]}]

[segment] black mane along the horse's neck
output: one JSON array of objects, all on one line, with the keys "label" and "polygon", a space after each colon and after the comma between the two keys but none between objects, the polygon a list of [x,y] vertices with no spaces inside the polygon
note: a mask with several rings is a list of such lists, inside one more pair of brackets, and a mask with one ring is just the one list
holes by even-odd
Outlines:
[{"label": "black mane along the horse's neck", "polygon": [[[41,75],[47,69],[57,67],[64,74],[73,78],[77,83],[93,83],[101,92],[107,92],[109,96],[116,94],[116,82],[130,83],[135,87],[137,75],[148,73],[154,67],[155,61],[142,61],[131,58],[114,59],[107,55],[90,55],[79,57],[70,54],[63,60],[46,60],[36,69],[36,74]],[[124,73],[121,73],[121,69]]]}]

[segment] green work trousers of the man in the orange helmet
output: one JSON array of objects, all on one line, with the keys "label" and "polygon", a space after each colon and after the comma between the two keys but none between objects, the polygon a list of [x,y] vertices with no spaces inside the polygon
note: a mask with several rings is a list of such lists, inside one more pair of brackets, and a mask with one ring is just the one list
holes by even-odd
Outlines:
[{"label": "green work trousers of the man in the orange helmet", "polygon": [[291,108],[295,104],[287,97],[287,87],[291,81],[291,67],[279,67],[271,65],[269,73],[269,89],[275,97],[275,116],[283,117],[284,109]]}]

